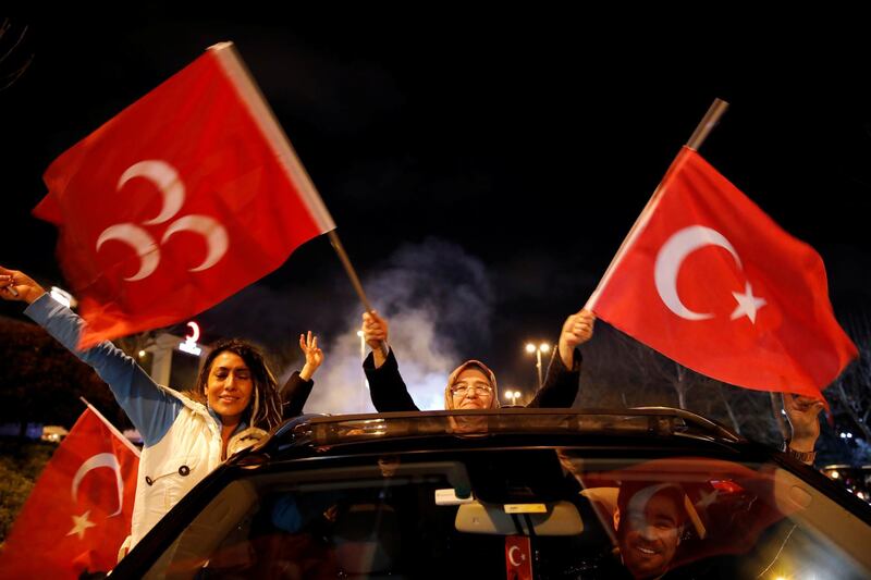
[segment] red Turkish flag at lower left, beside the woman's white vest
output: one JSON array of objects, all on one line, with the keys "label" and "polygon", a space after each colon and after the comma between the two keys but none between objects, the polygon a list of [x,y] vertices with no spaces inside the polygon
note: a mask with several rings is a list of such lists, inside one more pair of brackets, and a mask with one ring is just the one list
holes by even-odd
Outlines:
[{"label": "red Turkish flag at lower left, beside the woman's white vest", "polygon": [[130,535],[139,454],[90,408],[51,456],[0,554],[3,578],[108,571]]}]

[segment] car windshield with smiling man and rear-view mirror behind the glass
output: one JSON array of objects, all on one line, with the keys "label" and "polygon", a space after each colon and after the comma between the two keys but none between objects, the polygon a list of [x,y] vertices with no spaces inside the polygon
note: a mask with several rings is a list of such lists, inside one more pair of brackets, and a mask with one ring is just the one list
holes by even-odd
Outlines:
[{"label": "car windshield with smiling man and rear-view mirror behind the glass", "polygon": [[[306,429],[324,452],[385,424]],[[871,575],[868,523],[772,461],[468,441],[237,467],[147,577]]]}]

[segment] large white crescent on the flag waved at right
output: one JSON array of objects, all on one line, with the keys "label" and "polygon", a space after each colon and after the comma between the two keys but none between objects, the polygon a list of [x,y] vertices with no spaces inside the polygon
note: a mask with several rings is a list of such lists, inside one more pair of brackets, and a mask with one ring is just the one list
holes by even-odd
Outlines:
[{"label": "large white crescent on the flag waved at right", "polygon": [[706,246],[717,246],[727,250],[738,262],[738,267],[741,267],[741,260],[728,239],[716,230],[703,225],[691,225],[677,231],[657,254],[653,271],[657,292],[672,312],[687,320],[713,318],[710,312],[694,312],[684,306],[677,294],[677,274],[680,271],[680,264],[684,263],[687,256]]}]

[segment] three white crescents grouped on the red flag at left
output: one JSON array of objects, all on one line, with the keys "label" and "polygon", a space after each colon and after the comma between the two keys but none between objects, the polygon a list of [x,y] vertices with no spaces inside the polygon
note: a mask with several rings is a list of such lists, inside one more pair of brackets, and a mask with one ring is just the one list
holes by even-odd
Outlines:
[{"label": "three white crescents grouped on the red flag at left", "polygon": [[[185,187],[179,172],[159,159],[148,159],[134,163],[124,171],[118,181],[116,189],[121,188],[130,180],[143,177],[150,181],[162,194],[162,205],[156,218],[144,221],[143,225],[156,225],[171,220],[184,205]],[[208,250],[203,262],[188,269],[189,272],[201,272],[208,270],[226,254],[230,247],[230,238],[226,230],[213,218],[208,215],[183,215],[172,222],[163,233],[161,244],[179,232],[194,232],[206,238]],[[136,282],[151,275],[160,263],[160,247],[155,238],[140,225],[135,223],[119,223],[110,225],[103,230],[97,238],[97,251],[108,240],[115,239],[131,246],[136,256],[139,257],[139,270],[124,280]]]}]

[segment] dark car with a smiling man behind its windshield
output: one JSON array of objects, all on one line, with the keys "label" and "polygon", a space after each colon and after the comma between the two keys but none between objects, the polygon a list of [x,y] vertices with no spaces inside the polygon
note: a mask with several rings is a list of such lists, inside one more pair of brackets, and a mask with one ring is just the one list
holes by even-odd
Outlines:
[{"label": "dark car with a smiling man behind its windshield", "polygon": [[672,408],[304,416],[119,578],[869,578],[871,508]]}]

